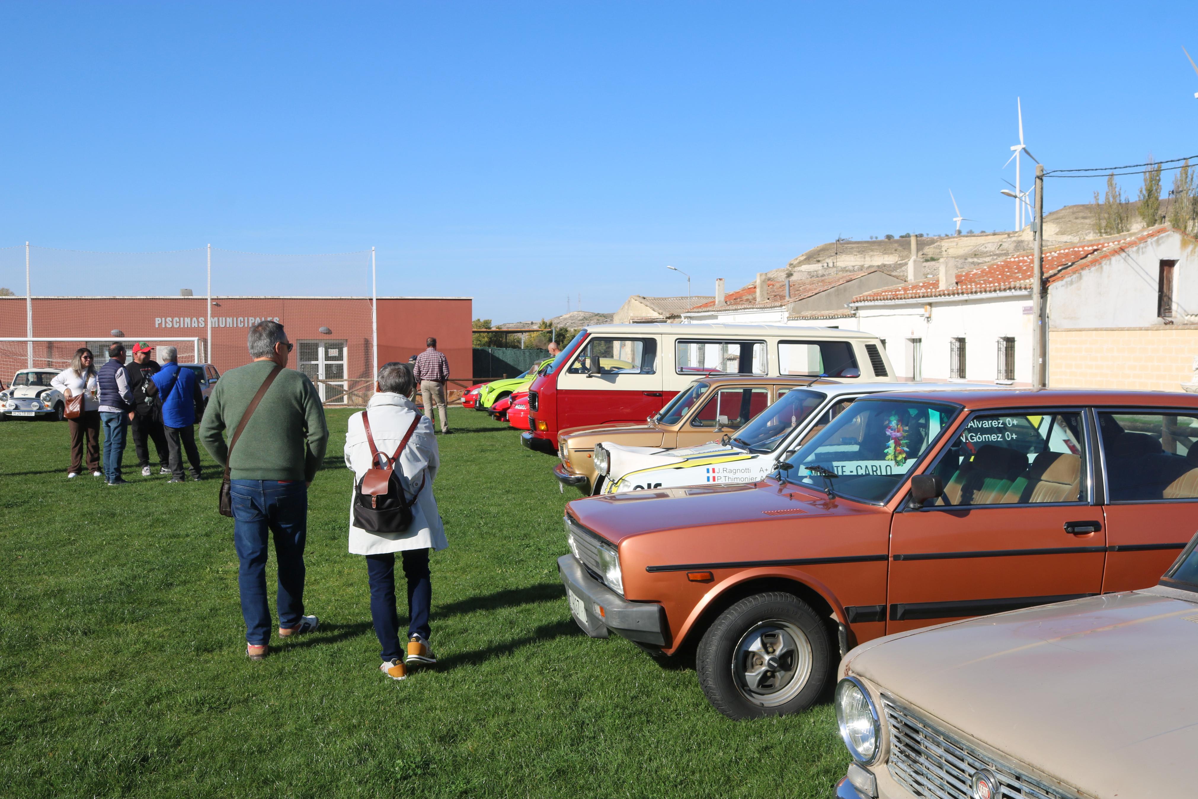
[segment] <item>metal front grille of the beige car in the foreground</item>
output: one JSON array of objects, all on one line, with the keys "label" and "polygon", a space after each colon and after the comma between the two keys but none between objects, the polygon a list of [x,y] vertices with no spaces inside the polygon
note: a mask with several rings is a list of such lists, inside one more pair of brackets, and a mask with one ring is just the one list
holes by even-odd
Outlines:
[{"label": "metal front grille of the beige car in the foreground", "polygon": [[996,799],[1077,797],[1076,793],[1052,788],[1005,763],[984,756],[889,696],[882,697],[882,704],[890,728],[890,776],[916,797],[973,799],[972,780],[980,769],[990,769],[1002,785]]}]

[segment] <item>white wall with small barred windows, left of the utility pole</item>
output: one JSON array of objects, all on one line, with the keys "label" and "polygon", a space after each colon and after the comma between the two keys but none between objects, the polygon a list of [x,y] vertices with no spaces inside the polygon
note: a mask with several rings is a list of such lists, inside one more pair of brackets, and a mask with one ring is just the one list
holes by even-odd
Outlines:
[{"label": "white wall with small barred windows, left of the utility pole", "polygon": [[[930,315],[925,314],[925,305]],[[890,363],[904,379],[912,376],[910,339],[922,339],[924,380],[949,380],[951,339],[966,339],[966,379],[998,377],[998,339],[1015,337],[1015,381],[1031,382],[1030,292],[988,297],[914,299],[896,304],[858,307],[858,326],[887,343]]]}]

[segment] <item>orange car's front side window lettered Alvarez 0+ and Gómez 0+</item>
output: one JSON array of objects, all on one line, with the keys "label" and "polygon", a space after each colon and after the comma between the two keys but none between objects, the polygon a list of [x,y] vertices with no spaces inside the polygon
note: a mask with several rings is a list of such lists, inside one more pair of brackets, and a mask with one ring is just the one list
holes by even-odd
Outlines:
[{"label": "orange car's front side window lettered Alvarez 0+ and G\u00f3mez 0+", "polygon": [[937,464],[936,504],[1082,502],[1085,462],[1081,413],[979,414]]}]

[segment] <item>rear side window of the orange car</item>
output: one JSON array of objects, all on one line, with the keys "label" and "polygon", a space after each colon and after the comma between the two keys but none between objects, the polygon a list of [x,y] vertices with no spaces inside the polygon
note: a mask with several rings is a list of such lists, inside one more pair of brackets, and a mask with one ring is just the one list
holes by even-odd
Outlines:
[{"label": "rear side window of the orange car", "polygon": [[1198,414],[1099,413],[1112,502],[1198,498]]}]

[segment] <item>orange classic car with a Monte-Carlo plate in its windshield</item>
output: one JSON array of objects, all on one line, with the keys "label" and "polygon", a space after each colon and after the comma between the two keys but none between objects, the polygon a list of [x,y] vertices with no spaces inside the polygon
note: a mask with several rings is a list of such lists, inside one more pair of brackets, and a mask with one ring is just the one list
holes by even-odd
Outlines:
[{"label": "orange classic car with a Monte-Carlo plate in its windshield", "polygon": [[1198,520],[1198,397],[853,402],[769,478],[567,506],[588,635],[694,652],[734,719],[792,713],[872,638],[1156,583]]}]

